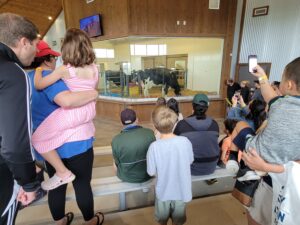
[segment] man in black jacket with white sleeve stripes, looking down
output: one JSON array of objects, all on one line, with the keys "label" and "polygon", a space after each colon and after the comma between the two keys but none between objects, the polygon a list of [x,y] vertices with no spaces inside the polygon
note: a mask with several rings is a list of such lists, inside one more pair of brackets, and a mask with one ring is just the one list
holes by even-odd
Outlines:
[{"label": "man in black jacket with white sleeve stripes, looking down", "polygon": [[11,225],[17,196],[29,204],[40,187],[31,146],[29,79],[22,69],[36,54],[36,26],[24,17],[0,14],[0,224]]}]

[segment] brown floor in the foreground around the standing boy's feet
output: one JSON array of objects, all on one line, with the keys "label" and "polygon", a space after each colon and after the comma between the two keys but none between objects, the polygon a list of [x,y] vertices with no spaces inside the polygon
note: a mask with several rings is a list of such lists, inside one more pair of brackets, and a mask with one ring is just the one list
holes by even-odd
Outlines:
[{"label": "brown floor in the foreground around the standing boy's feet", "polygon": [[[247,225],[245,209],[230,194],[194,199],[188,203],[186,225]],[[75,217],[72,225],[83,223]],[[18,225],[32,225],[17,223]],[[154,207],[132,209],[124,212],[106,213],[103,225],[153,225]],[[54,225],[53,222],[39,222],[34,225]],[[171,225],[171,221],[168,222]]]}]

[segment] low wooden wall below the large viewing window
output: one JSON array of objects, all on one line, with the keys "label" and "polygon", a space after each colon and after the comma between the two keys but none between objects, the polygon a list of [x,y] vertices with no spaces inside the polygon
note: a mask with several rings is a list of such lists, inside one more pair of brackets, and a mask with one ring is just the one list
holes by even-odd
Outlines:
[{"label": "low wooden wall below the large viewing window", "polygon": [[[191,101],[179,102],[180,111],[184,117],[192,114],[193,108]],[[120,113],[123,109],[130,108],[135,110],[137,117],[142,122],[151,121],[151,113],[155,108],[155,102],[145,103],[124,103],[118,101],[107,101],[98,99],[96,104],[97,116],[112,119],[115,121],[120,120]],[[224,118],[225,105],[223,100],[212,100],[207,112],[207,115],[213,118]]]}]

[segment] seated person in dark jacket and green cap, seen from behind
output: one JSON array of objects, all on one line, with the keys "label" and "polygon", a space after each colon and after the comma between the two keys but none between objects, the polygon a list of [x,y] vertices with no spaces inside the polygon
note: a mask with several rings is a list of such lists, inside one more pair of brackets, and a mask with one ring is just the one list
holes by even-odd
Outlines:
[{"label": "seated person in dark jacket and green cap, seen from behind", "polygon": [[220,155],[218,145],[219,126],[206,116],[209,99],[196,94],[193,99],[193,115],[178,122],[174,134],[187,137],[193,145],[192,175],[207,175],[215,171]]}]

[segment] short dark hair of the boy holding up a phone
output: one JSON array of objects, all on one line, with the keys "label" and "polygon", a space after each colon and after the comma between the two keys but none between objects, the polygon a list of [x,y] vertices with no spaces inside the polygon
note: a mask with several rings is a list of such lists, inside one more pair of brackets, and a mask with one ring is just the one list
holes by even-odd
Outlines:
[{"label": "short dark hair of the boy holding up a phone", "polygon": [[300,57],[286,65],[284,79],[293,81],[297,86],[297,90],[300,90]]}]

